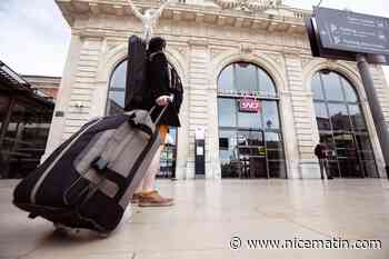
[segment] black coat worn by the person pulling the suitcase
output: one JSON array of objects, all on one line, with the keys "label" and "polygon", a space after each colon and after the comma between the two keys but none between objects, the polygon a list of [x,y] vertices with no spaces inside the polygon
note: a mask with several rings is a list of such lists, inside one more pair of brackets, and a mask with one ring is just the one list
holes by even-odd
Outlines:
[{"label": "black coat worn by the person pulling the suitcase", "polygon": [[[147,72],[146,72],[146,86],[149,91],[146,94],[149,94],[147,107],[157,106],[156,99],[160,96],[170,96],[173,91],[170,89],[170,79],[169,79],[169,67],[168,60],[163,52],[157,52],[148,58],[147,62]],[[178,99],[174,99],[172,103],[169,103],[163,117],[161,118],[159,124],[168,124],[172,127],[180,127],[180,120],[178,117],[180,103],[177,103]],[[158,107],[154,112],[152,112],[152,119],[156,119],[161,112],[162,107]]]}]

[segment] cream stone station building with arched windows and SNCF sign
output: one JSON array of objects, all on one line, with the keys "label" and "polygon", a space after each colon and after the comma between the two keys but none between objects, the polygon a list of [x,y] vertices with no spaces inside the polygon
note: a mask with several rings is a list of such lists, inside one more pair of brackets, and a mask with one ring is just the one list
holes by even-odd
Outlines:
[{"label": "cream stone station building with arched windows and SNCF sign", "polygon": [[[133,1],[140,9],[159,1]],[[124,0],[57,0],[71,27],[46,156],[88,120],[120,112],[128,38],[142,26]],[[171,129],[174,177],[193,179],[194,138],[205,177],[319,178],[315,146],[331,149],[338,178],[383,178],[383,158],[356,62],[313,58],[303,20],[282,1],[187,0],[163,11],[156,36],[184,88]],[[382,68],[371,66],[389,121]]]}]

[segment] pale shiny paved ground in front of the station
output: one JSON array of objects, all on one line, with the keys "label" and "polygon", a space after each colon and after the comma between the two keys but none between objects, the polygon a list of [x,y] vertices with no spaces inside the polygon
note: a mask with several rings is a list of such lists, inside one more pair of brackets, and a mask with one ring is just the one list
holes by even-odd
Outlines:
[{"label": "pale shiny paved ground in front of the station", "polygon": [[[13,186],[0,181],[1,259],[389,258],[387,180],[159,181],[177,205],[133,208],[108,239],[87,231],[56,235],[49,222],[28,220],[11,205]],[[241,239],[241,249],[229,247],[232,237]],[[247,245],[248,239],[333,237],[379,239],[382,249],[250,250]]]}]

